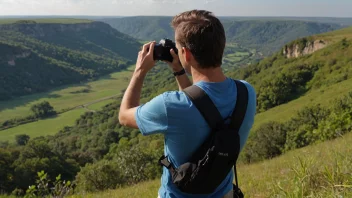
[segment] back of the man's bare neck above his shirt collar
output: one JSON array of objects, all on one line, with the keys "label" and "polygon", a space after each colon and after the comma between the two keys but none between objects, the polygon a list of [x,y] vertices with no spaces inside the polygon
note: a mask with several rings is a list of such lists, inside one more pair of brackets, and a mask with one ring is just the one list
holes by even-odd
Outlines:
[{"label": "back of the man's bare neck above his shirt collar", "polygon": [[221,67],[200,69],[191,67],[193,84],[199,81],[205,82],[223,82],[226,80],[226,76],[221,70]]}]

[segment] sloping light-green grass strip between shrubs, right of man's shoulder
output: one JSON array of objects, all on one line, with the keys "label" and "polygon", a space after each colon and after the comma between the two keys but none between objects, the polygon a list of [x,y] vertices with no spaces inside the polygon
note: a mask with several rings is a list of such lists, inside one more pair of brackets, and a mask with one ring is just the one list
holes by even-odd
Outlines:
[{"label": "sloping light-green grass strip between shrubs, right of man's shoulder", "polygon": [[352,90],[352,79],[342,81],[329,87],[320,88],[318,90],[310,91],[304,96],[282,104],[280,106],[269,109],[263,113],[259,113],[255,117],[253,130],[261,124],[269,121],[287,121],[298,110],[312,104],[321,104],[323,106],[329,105],[334,99],[346,95]]}]

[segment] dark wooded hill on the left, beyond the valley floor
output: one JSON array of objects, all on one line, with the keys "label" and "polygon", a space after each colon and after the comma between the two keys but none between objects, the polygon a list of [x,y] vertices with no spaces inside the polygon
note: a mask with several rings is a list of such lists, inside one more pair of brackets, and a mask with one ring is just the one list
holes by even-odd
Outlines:
[{"label": "dark wooded hill on the left, beyond the valley floor", "polygon": [[125,69],[139,47],[102,22],[0,25],[0,100]]}]

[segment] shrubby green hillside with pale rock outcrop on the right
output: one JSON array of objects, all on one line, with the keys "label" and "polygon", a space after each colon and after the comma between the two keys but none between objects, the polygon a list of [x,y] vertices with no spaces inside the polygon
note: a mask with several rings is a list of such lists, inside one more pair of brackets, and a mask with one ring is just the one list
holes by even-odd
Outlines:
[{"label": "shrubby green hillside with pale rock outcrop on the right", "polygon": [[[325,47],[312,50],[317,42],[324,43]],[[296,40],[283,49],[295,51],[299,57],[287,58],[281,51],[230,74],[254,85],[259,111],[352,77],[352,28]]]}]

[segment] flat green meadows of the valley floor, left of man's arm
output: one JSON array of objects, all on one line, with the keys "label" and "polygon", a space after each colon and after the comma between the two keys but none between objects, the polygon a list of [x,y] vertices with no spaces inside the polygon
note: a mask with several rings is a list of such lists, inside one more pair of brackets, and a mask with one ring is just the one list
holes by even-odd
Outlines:
[{"label": "flat green meadows of the valley floor, left of man's arm", "polygon": [[[89,110],[100,110],[106,104],[113,102],[114,99],[106,99],[103,101],[99,100],[102,98],[109,98],[113,95],[119,95],[121,91],[127,87],[129,76],[131,76],[133,67],[134,66],[131,66],[127,71],[116,72],[98,81],[89,82],[84,85],[76,85],[68,88],[57,89],[49,93],[35,94],[12,101],[1,102],[0,109],[5,108],[5,110],[0,112],[1,119],[28,115],[30,113],[30,106],[43,100],[49,101],[56,110],[72,108],[84,104],[89,105],[87,105],[86,108],[79,107],[78,109],[59,114],[53,118],[0,131],[0,140],[13,142],[15,141],[15,136],[18,134],[27,134],[31,138],[42,135],[53,135],[64,126],[72,126],[84,112]],[[87,87],[89,87],[90,91],[87,93],[82,92],[82,90],[86,90]],[[55,97],[48,97],[50,95],[55,95]],[[99,102],[90,104],[94,101]],[[6,109],[6,104],[14,106],[15,108]],[[17,104],[25,105],[16,106]]]}]

